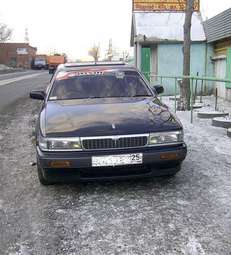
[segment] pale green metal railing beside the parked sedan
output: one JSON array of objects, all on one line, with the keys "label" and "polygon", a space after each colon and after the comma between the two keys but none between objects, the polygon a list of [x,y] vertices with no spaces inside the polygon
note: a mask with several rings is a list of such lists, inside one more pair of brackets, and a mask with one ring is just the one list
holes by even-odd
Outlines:
[{"label": "pale green metal railing beside the parked sedan", "polygon": [[[177,94],[178,94],[178,83],[179,81],[182,81],[183,79],[189,79],[190,80],[190,112],[191,112],[191,123],[193,123],[193,110],[194,110],[194,103],[195,99],[198,95],[198,82],[200,81],[200,102],[202,103],[202,96],[204,93],[204,86],[205,82],[221,82],[221,83],[229,83],[231,84],[231,80],[228,79],[220,79],[217,77],[199,77],[199,76],[168,76],[168,75],[155,75],[152,73],[143,73],[145,77],[150,81],[150,79],[155,78],[157,81],[160,82],[161,85],[163,85],[163,82],[165,79],[171,79],[174,83],[174,110],[177,111]],[[164,85],[163,85],[164,86]],[[215,89],[215,110],[217,110],[217,89]],[[160,98],[161,99],[161,98]]]}]

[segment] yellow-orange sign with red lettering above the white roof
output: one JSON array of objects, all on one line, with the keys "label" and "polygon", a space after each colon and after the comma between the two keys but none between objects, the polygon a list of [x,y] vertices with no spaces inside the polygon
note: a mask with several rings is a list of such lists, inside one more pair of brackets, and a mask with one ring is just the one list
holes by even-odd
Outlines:
[{"label": "yellow-orange sign with red lettering above the white roof", "polygon": [[[185,11],[187,0],[133,0],[133,11]],[[194,0],[194,11],[200,10],[200,0]]]}]

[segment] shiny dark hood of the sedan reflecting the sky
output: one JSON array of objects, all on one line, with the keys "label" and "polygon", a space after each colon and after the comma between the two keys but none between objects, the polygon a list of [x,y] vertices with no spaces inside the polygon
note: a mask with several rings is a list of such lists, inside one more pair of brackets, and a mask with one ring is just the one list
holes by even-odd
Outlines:
[{"label": "shiny dark hood of the sedan reflecting the sky", "polygon": [[43,109],[49,137],[141,134],[181,129],[156,98],[48,101]]}]

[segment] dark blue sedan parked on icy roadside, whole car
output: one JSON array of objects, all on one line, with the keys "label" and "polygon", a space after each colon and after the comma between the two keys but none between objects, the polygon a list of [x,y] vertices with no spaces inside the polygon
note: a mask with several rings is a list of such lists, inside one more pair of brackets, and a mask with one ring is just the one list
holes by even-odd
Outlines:
[{"label": "dark blue sedan parked on icy roadside, whole car", "polygon": [[36,128],[42,184],[174,175],[187,148],[183,127],[134,67],[120,63],[59,66]]}]

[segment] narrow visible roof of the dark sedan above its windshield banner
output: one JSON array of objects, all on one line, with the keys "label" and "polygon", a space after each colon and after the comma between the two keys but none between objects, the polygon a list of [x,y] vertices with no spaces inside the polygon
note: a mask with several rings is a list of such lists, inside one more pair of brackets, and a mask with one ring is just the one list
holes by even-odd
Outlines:
[{"label": "narrow visible roof of the dark sedan above its windshield banner", "polygon": [[123,71],[137,71],[137,69],[133,66],[129,66],[124,62],[81,62],[81,63],[66,63],[58,66],[58,71],[74,71],[81,70],[85,68],[94,68],[94,70],[110,68],[115,70],[123,70]]}]

